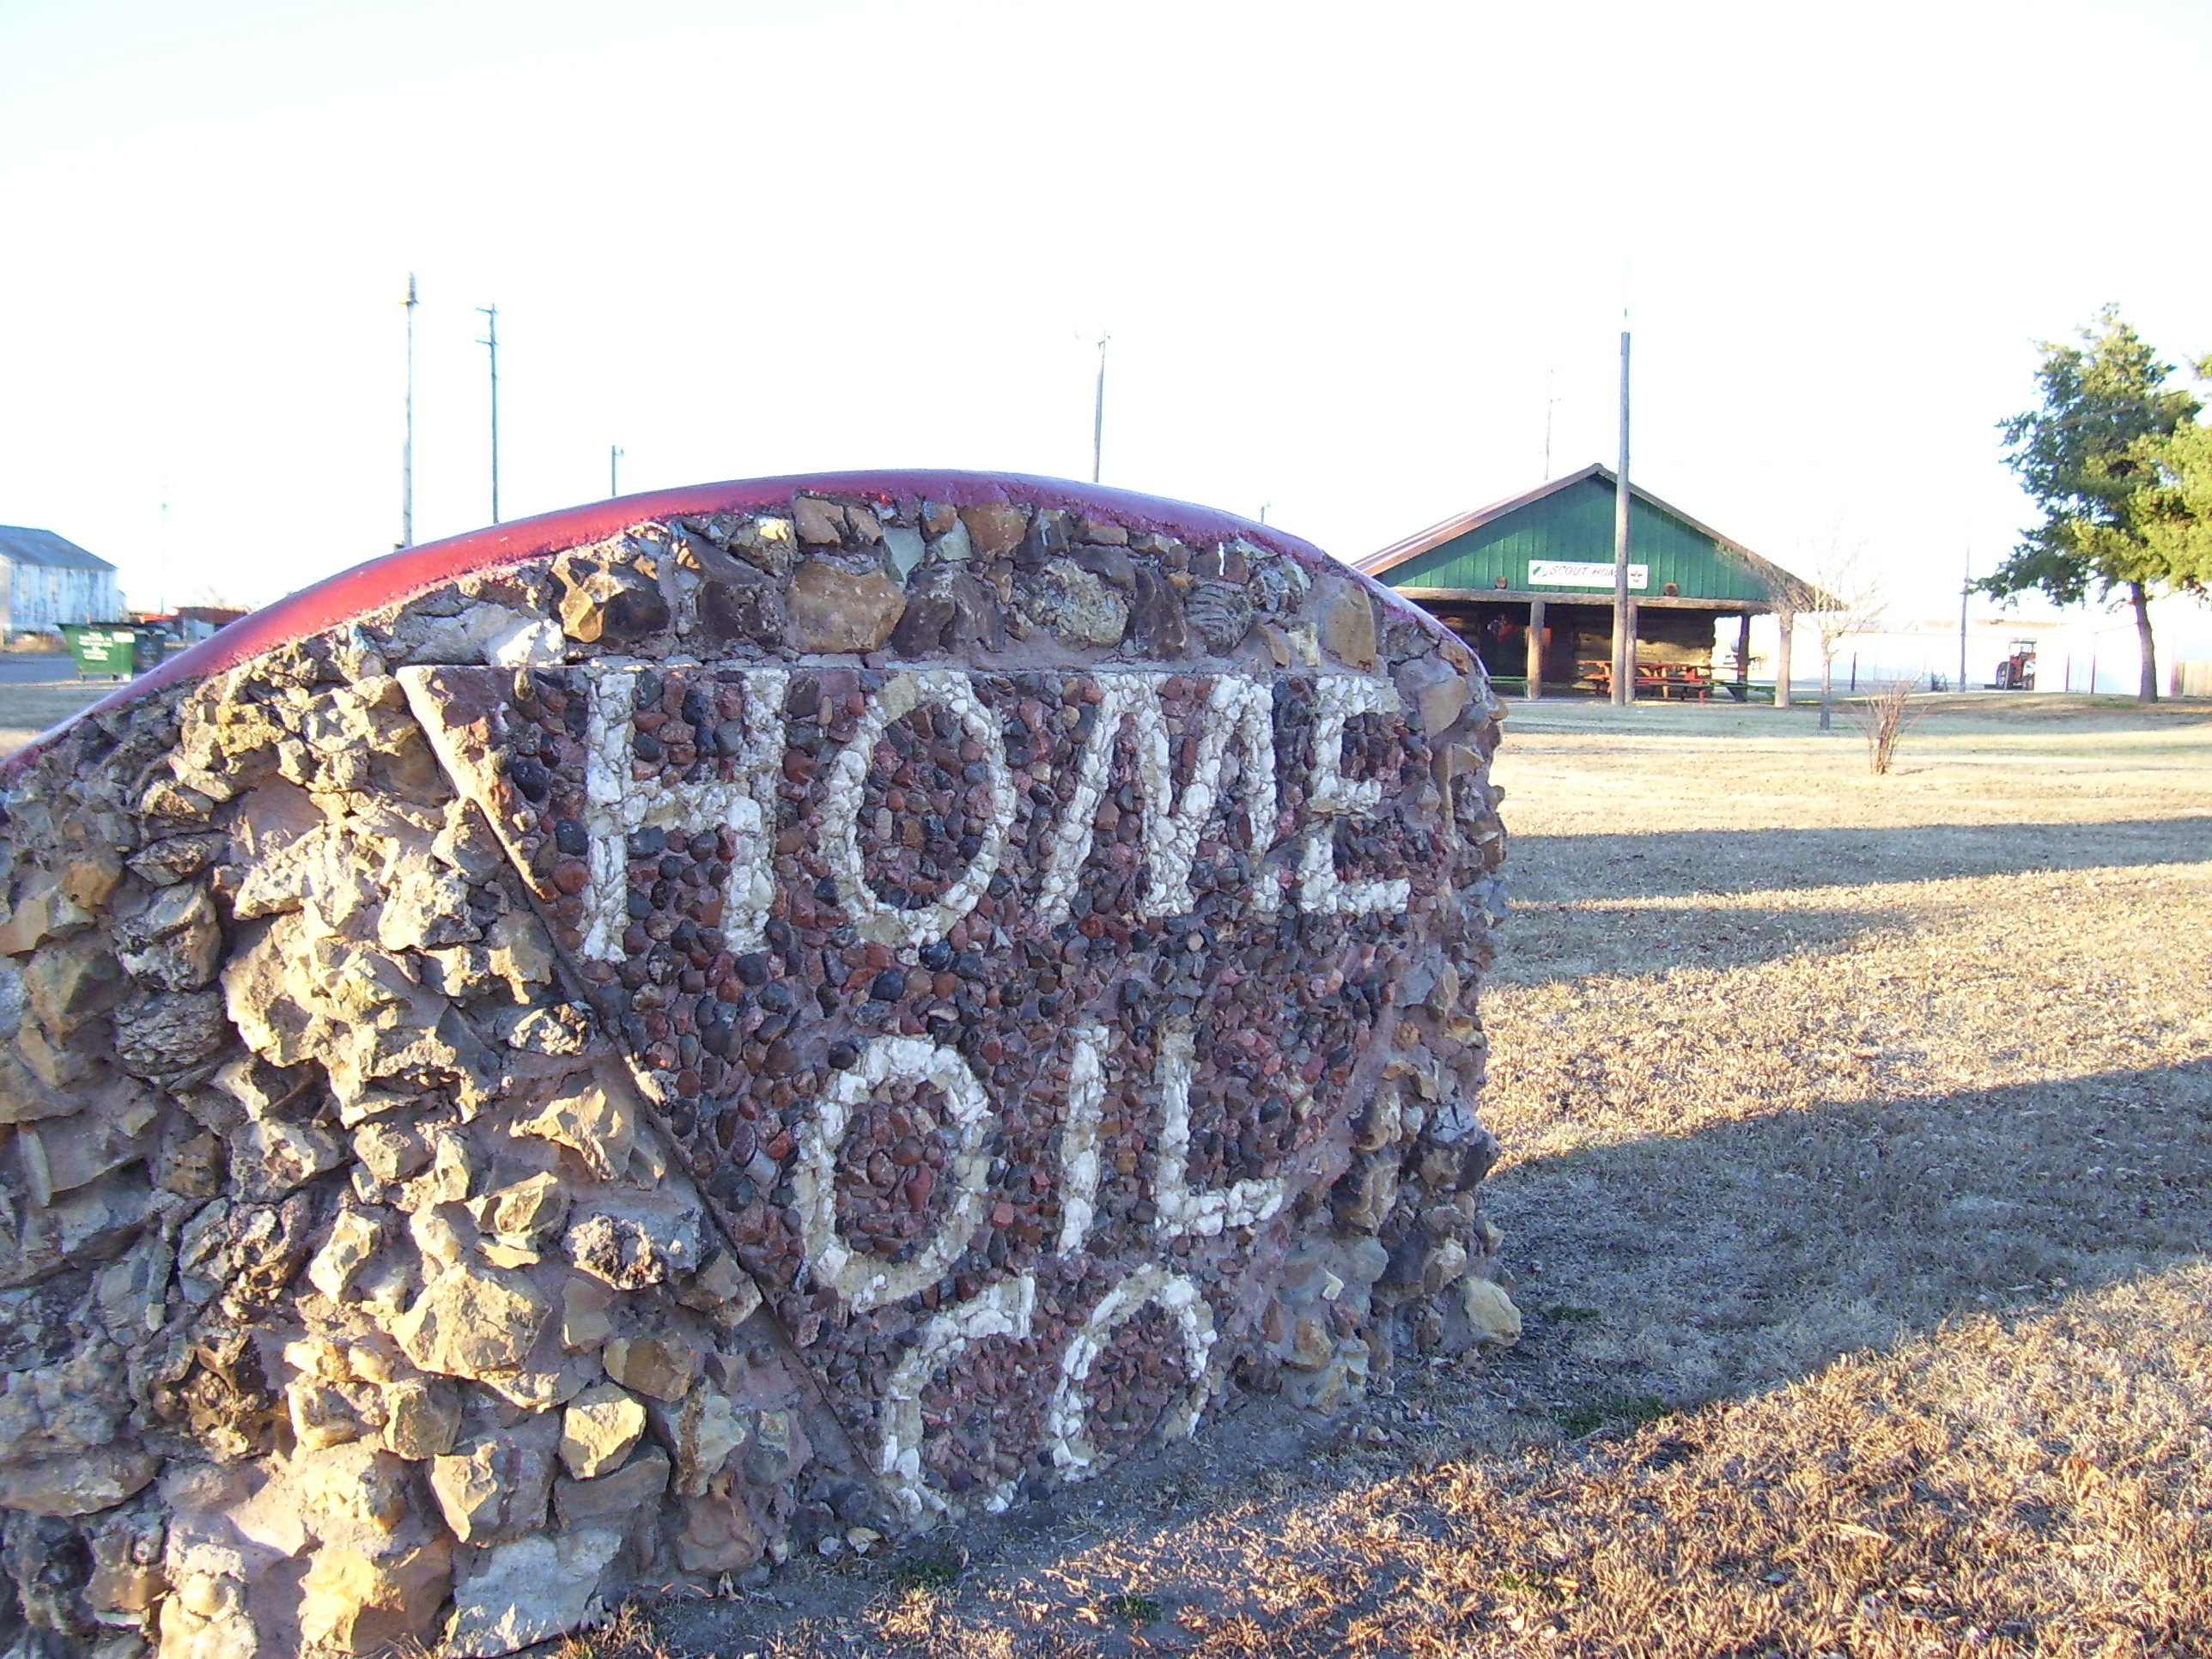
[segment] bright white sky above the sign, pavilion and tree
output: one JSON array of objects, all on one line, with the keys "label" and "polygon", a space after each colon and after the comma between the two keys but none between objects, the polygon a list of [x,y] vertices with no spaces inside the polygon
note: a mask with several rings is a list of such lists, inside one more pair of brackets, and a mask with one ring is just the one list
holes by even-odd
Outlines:
[{"label": "bright white sky above the sign, pavilion and tree", "polygon": [[[0,522],[133,604],[774,471],[1088,476],[1356,557],[1613,458],[1944,615],[2108,299],[2212,349],[2212,7],[0,0]],[[168,511],[161,511],[161,502]],[[2192,611],[2197,611],[2192,606]]]}]

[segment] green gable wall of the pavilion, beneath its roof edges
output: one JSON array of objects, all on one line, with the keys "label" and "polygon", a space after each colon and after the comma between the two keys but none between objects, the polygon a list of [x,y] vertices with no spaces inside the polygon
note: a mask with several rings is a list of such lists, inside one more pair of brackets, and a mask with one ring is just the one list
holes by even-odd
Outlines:
[{"label": "green gable wall of the pavilion, beneath its roof edges", "polygon": [[[1639,595],[1666,593],[1666,584],[1674,582],[1688,599],[1767,597],[1767,591],[1743,566],[1721,555],[1703,531],[1644,500],[1632,500],[1628,513],[1628,557],[1632,564],[1650,566],[1650,586]],[[1526,588],[1528,560],[1613,564],[1613,484],[1584,478],[1385,571],[1383,580],[1394,588],[1484,591],[1495,588],[1498,577],[1506,577],[1509,588]],[[1540,591],[1562,597],[1573,593],[1551,586]]]}]

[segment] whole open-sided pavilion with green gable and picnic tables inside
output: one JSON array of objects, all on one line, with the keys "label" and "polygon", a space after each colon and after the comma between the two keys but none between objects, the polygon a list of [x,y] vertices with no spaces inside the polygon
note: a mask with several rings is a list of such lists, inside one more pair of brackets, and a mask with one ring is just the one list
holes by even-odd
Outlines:
[{"label": "whole open-sided pavilion with green gable and picnic tables inside", "polygon": [[[1628,617],[1639,697],[1790,701],[1794,611],[1818,595],[1743,542],[1628,487]],[[1613,675],[1613,469],[1590,465],[1369,553],[1506,690],[1604,692]],[[1785,619],[1772,681],[1750,677],[1752,617]],[[1732,639],[1728,635],[1734,635]],[[1725,646],[1714,664],[1717,639]]]}]

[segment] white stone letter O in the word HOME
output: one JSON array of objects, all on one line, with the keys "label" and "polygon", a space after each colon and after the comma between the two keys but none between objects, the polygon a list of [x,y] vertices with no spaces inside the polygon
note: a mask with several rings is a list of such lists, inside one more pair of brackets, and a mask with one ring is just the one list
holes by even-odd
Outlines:
[{"label": "white stone letter O in the word HOME", "polygon": [[[876,765],[876,743],[891,721],[905,719],[922,703],[951,710],[962,730],[982,750],[982,765],[989,770],[989,818],[982,845],[969,867],[945,889],[942,898],[916,909],[885,905],[867,880],[860,856],[860,792],[867,785],[869,768]],[[836,878],[838,896],[852,916],[860,938],[874,945],[902,945],[918,949],[945,938],[962,916],[975,909],[991,876],[998,874],[1006,856],[1006,836],[1013,832],[1013,772],[1006,770],[1006,734],[998,719],[975,697],[969,677],[949,668],[925,668],[898,675],[869,701],[860,717],[860,728],[852,743],[830,768],[830,785],[823,792],[823,854],[830,874]]]}]

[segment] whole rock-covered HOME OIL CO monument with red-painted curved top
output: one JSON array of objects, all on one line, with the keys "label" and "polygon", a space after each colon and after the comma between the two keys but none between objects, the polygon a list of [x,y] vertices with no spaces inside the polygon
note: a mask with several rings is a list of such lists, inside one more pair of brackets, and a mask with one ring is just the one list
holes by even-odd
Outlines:
[{"label": "whole rock-covered HOME OIL CO monument with red-painted curved top", "polygon": [[80,719],[0,1648],[500,1655],[1511,1340],[1498,712],[1301,542],[956,473],[394,555]]}]

